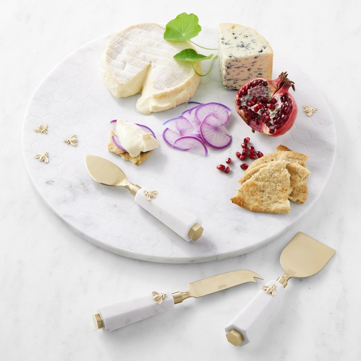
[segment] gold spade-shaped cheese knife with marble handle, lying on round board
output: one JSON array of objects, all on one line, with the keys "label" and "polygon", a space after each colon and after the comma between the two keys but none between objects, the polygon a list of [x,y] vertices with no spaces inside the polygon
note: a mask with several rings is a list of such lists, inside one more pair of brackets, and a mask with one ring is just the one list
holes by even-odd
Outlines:
[{"label": "gold spade-shaped cheese knife with marble handle, lying on round board", "polygon": [[141,188],[129,182],[121,168],[105,158],[86,155],[85,165],[94,181],[106,186],[127,188],[134,200],[159,221],[180,235],[187,242],[197,240],[203,233],[201,220],[165,199],[161,192]]}]

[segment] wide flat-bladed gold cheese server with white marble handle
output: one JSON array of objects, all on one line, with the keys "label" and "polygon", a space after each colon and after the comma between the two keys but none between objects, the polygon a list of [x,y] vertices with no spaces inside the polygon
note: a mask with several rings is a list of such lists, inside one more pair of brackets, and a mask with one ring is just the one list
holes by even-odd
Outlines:
[{"label": "wide flat-bladed gold cheese server with white marble handle", "polygon": [[308,235],[298,232],[281,253],[285,274],[267,282],[240,313],[226,326],[227,340],[234,346],[247,345],[282,299],[290,278],[315,275],[335,250]]}]

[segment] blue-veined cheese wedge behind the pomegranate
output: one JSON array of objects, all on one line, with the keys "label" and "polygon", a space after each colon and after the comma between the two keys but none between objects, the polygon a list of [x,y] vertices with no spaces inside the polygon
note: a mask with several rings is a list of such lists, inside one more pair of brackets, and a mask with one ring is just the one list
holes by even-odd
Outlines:
[{"label": "blue-veined cheese wedge behind the pomegranate", "polygon": [[250,27],[219,24],[218,49],[222,83],[226,89],[239,89],[257,77],[272,78],[273,50]]}]

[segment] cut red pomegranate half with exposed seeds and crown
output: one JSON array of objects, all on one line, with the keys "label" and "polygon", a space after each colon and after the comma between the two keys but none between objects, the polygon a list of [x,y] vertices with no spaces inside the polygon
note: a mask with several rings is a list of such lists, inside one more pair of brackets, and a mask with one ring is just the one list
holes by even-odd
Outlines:
[{"label": "cut red pomegranate half with exposed seeds and crown", "polygon": [[286,133],[297,116],[297,104],[288,90],[294,82],[282,72],[277,79],[255,78],[235,96],[235,108],[252,132],[277,137]]}]

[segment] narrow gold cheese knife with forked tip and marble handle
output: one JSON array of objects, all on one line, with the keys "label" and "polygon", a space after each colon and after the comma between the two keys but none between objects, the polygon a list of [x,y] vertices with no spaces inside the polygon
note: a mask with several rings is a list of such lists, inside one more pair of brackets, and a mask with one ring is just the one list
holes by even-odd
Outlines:
[{"label": "narrow gold cheese knife with forked tip and marble handle", "polygon": [[105,332],[112,331],[162,312],[170,311],[174,305],[183,302],[189,297],[198,298],[246,282],[256,282],[254,278],[263,280],[251,270],[238,269],[192,282],[189,284],[187,292],[153,291],[140,298],[100,307],[93,316],[93,321],[97,329],[103,329]]}]

